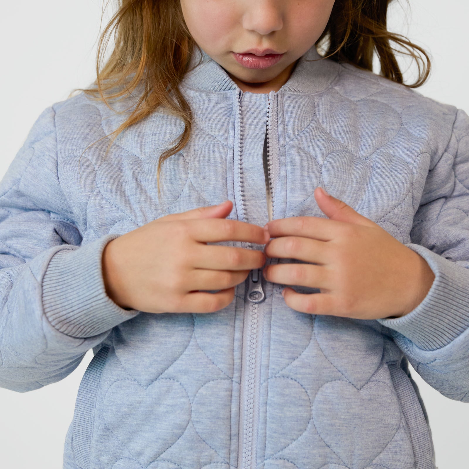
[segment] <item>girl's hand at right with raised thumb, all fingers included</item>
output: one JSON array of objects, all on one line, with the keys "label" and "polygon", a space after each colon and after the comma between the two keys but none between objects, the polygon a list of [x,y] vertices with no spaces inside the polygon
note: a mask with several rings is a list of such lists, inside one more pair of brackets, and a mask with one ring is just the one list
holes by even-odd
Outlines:
[{"label": "girl's hand at right with raised thumb, all fingers included", "polygon": [[316,189],[319,208],[329,219],[292,217],[270,221],[267,257],[310,264],[268,265],[266,280],[319,288],[321,293],[283,290],[297,311],[359,319],[401,317],[415,309],[435,278],[430,266],[370,219]]}]

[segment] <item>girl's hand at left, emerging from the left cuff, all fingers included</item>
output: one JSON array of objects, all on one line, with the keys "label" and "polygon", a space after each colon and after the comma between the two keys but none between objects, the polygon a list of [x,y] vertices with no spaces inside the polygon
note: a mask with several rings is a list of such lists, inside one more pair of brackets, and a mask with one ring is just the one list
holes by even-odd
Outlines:
[{"label": "girl's hand at left, emerging from the left cuff, all fingers included", "polygon": [[261,268],[266,257],[260,250],[206,243],[270,239],[262,227],[226,219],[232,208],[227,200],[166,215],[108,242],[102,257],[107,295],[121,308],[149,313],[225,308],[233,301],[234,286],[251,269]]}]

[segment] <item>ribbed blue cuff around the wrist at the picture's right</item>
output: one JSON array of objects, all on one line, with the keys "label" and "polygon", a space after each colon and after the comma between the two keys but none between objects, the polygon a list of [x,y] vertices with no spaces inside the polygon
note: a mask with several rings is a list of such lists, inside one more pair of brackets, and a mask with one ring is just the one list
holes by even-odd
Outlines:
[{"label": "ribbed blue cuff around the wrist at the picture's right", "polygon": [[377,320],[412,340],[418,348],[436,350],[469,327],[469,269],[419,244],[406,246],[427,261],[435,280],[414,310],[401,318]]}]

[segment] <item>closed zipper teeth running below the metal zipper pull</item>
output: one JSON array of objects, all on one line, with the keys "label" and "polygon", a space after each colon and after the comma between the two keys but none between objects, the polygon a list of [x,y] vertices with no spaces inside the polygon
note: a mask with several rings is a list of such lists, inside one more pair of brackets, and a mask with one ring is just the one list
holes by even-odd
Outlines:
[{"label": "closed zipper teeth running below the metal zipper pull", "polygon": [[244,442],[243,442],[243,459],[242,468],[251,467],[252,457],[252,431],[253,431],[253,410],[254,410],[254,391],[255,391],[255,369],[256,369],[256,346],[257,346],[257,319],[259,305],[257,303],[250,304],[250,334],[249,334],[249,351],[248,351],[248,381],[246,383],[247,402],[244,415]]}]

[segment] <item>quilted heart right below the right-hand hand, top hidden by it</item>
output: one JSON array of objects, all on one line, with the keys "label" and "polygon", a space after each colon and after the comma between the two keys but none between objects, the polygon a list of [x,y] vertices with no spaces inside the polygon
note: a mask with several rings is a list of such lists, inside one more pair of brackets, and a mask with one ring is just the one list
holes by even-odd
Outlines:
[{"label": "quilted heart right below the right-hand hand, top hidden by it", "polygon": [[377,370],[383,336],[366,325],[338,316],[317,316],[314,335],[327,359],[358,389]]}]

